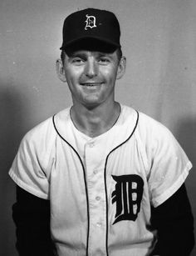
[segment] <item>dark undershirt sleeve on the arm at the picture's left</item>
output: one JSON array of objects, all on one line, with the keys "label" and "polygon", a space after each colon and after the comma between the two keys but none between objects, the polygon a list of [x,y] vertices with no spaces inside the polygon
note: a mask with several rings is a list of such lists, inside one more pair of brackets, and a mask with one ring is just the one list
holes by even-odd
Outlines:
[{"label": "dark undershirt sleeve on the arm at the picture's left", "polygon": [[17,251],[20,256],[54,256],[51,241],[50,201],[38,198],[17,186],[17,202],[12,206],[17,228]]}]

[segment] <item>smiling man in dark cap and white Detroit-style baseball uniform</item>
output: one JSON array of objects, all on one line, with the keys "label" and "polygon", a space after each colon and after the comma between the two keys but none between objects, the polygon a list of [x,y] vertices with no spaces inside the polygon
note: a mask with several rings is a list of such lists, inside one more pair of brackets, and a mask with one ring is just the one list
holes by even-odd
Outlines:
[{"label": "smiling man in dark cap and white Detroit-style baseball uniform", "polygon": [[189,255],[192,165],[167,128],[115,102],[114,13],[68,16],[56,71],[73,105],[26,134],[9,173],[20,255]]}]

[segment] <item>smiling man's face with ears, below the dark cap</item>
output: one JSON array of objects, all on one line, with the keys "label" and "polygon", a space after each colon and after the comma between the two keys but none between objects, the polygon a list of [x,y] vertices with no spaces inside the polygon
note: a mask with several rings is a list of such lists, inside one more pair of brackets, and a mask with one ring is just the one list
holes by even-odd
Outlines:
[{"label": "smiling man's face with ears, below the dark cap", "polygon": [[116,51],[77,49],[65,55],[65,78],[74,104],[95,108],[114,101],[115,80],[121,77],[122,69]]}]

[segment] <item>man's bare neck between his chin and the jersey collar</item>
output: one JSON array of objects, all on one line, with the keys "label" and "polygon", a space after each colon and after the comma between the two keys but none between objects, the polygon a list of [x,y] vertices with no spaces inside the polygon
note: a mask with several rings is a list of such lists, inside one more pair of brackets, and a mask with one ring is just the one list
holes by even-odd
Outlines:
[{"label": "man's bare neck between his chin and the jersey collar", "polygon": [[120,115],[120,104],[114,102],[105,108],[85,108],[73,105],[71,119],[76,128],[91,138],[95,138],[108,131],[115,124]]}]

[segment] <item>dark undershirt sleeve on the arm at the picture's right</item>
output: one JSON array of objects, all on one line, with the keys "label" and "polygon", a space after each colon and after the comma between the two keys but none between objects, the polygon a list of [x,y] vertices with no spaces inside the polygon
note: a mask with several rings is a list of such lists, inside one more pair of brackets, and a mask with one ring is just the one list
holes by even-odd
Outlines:
[{"label": "dark undershirt sleeve on the arm at the picture's right", "polygon": [[151,223],[158,231],[152,255],[190,255],[194,248],[194,218],[184,184],[168,200],[152,208]]}]

